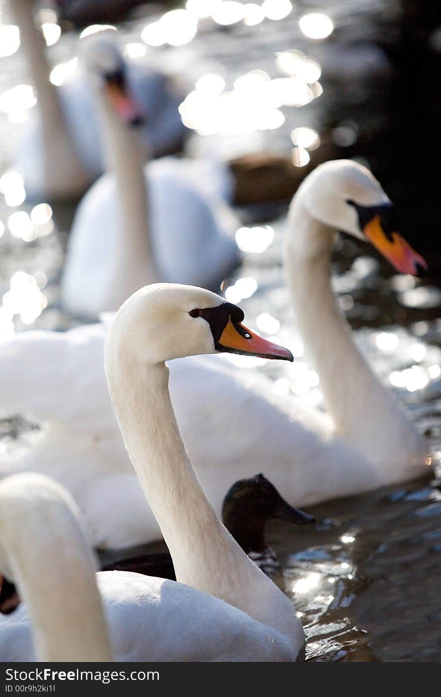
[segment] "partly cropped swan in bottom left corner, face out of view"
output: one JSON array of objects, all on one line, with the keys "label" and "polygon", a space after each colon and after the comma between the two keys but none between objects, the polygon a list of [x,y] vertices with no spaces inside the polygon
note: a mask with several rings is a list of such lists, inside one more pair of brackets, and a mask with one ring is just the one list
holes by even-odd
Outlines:
[{"label": "partly cropped swan in bottom left corner, face out of view", "polygon": [[40,474],[6,477],[0,526],[0,574],[26,606],[0,615],[1,661],[111,661],[95,560],[65,489]]}]

